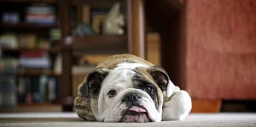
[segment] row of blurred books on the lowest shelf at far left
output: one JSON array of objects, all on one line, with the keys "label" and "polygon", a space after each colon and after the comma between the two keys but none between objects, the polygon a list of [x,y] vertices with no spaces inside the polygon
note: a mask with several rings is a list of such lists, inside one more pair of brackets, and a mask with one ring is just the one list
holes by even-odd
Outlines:
[{"label": "row of blurred books on the lowest shelf at far left", "polygon": [[60,98],[60,79],[56,77],[19,77],[1,75],[0,107],[15,107],[18,103],[46,103]]}]

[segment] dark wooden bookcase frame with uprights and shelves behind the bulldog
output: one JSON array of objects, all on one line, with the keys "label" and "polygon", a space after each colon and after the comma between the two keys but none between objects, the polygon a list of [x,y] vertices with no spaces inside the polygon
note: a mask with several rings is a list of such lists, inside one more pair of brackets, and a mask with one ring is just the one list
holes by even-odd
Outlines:
[{"label": "dark wooden bookcase frame with uprights and shelves behind the bulldog", "polygon": [[[86,35],[83,37],[72,36],[72,30],[74,29],[74,24],[81,23],[81,5],[89,5],[92,8],[97,9],[109,9],[115,2],[122,2],[125,7],[125,34],[124,35]],[[56,104],[52,104],[51,101],[39,104],[24,104],[18,103],[17,108],[13,109],[14,112],[22,111],[25,108],[33,108],[34,111],[40,111],[40,108],[51,108],[62,107],[61,110],[65,110],[67,106],[71,107],[73,105],[73,100],[70,97],[73,96],[73,83],[71,68],[75,64],[74,57],[76,54],[117,54],[117,53],[131,53],[141,57],[145,57],[145,18],[144,18],[144,6],[142,0],[96,0],[96,1],[54,1],[54,0],[3,0],[0,4],[12,5],[10,9],[7,7],[2,7],[0,9],[0,14],[2,15],[5,10],[14,10],[20,12],[21,16],[25,16],[25,9],[27,6],[32,4],[49,4],[56,9],[57,22],[51,24],[37,24],[37,23],[0,23],[0,33],[4,33],[6,30],[8,32],[17,32],[17,34],[26,32],[33,32],[35,35],[43,36],[49,34],[49,30],[52,28],[60,28],[61,39],[58,41],[51,41],[50,48],[3,48],[3,55],[8,54],[14,57],[19,57],[19,54],[24,51],[42,51],[50,54],[51,59],[61,53],[62,55],[62,73],[54,73],[52,69],[41,70],[41,69],[18,69],[17,77],[41,77],[46,75],[46,77],[60,78],[61,92],[60,98],[57,100]],[[0,5],[1,6],[1,5]],[[75,22],[71,20],[74,18],[72,9],[76,9],[77,14]],[[141,12],[138,13],[137,11]],[[23,21],[24,18],[21,18]],[[67,42],[68,41],[68,42]],[[138,45],[140,43],[140,45]],[[64,109],[63,109],[64,108]],[[57,108],[52,108],[57,109]],[[66,108],[70,111],[71,108]],[[32,111],[33,111],[32,110]],[[58,111],[59,108],[56,110]],[[1,111],[0,111],[1,112]]]}]

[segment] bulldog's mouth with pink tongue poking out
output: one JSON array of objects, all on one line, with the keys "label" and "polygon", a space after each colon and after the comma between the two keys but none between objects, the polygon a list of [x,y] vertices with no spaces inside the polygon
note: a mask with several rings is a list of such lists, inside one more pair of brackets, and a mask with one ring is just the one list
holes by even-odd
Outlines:
[{"label": "bulldog's mouth with pink tongue poking out", "polygon": [[147,109],[142,106],[127,108],[120,122],[151,122]]}]

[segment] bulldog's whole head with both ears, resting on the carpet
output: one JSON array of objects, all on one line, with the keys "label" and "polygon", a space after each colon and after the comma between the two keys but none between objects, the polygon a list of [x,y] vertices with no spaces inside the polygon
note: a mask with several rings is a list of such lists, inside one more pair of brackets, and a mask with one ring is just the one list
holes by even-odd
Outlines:
[{"label": "bulldog's whole head with both ears, resting on the carpet", "polygon": [[98,121],[159,122],[173,83],[159,66],[98,68],[78,88]]}]

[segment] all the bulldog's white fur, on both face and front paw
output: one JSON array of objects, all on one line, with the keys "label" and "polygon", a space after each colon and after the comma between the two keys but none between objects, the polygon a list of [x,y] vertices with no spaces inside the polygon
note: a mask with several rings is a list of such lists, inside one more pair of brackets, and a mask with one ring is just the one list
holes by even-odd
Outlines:
[{"label": "all the bulldog's white fur, on both face and front paw", "polygon": [[[125,104],[121,104],[122,97],[127,92],[136,92],[142,95],[141,105],[145,106],[149,118],[153,122],[163,120],[183,120],[191,110],[191,98],[186,91],[179,90],[174,84],[169,81],[166,89],[166,96],[170,97],[163,105],[159,105],[156,109],[151,97],[143,90],[133,88],[132,77],[135,74],[133,69],[136,67],[149,67],[138,63],[121,63],[112,70],[103,80],[100,95],[98,98],[98,113],[93,111],[95,118],[98,121],[118,122],[121,120],[121,112],[125,110]],[[117,95],[113,98],[108,97],[109,90],[116,90]],[[158,95],[163,102],[163,95]],[[163,113],[162,113],[163,111]]]}]

